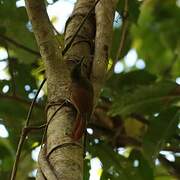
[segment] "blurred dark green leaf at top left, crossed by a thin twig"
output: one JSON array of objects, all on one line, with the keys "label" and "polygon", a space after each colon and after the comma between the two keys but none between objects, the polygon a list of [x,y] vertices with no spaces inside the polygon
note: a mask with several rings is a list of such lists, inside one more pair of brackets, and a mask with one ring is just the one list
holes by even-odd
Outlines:
[{"label": "blurred dark green leaf at top left, crossed by a thin twig", "polygon": [[[28,17],[25,7],[17,8],[16,1],[3,1],[0,6],[0,21],[1,26],[5,29],[5,34],[3,33],[2,35],[28,48],[38,49],[34,35],[28,29]],[[8,44],[10,56],[17,57],[21,63],[32,63],[37,58],[37,55],[29,53],[13,43],[0,38],[0,44],[2,44],[2,42]]]}]

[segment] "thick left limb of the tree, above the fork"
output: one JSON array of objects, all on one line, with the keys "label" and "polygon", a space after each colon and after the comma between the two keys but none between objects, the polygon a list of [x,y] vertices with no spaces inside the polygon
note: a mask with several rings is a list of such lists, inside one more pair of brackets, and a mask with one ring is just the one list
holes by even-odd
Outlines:
[{"label": "thick left limb of the tree, above the fork", "polygon": [[50,57],[54,57],[55,54],[57,56],[61,50],[59,49],[60,47],[55,38],[52,24],[46,11],[45,2],[44,0],[26,0],[25,4],[29,19],[32,23],[36,41],[40,48],[41,56],[45,61],[50,63],[50,61],[54,59]]}]

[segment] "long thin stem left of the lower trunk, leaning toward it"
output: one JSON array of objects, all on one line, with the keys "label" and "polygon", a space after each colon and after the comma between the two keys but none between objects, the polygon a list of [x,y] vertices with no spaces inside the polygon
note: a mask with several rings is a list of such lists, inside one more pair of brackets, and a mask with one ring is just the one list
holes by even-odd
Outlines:
[{"label": "long thin stem left of the lower trunk, leaning toward it", "polygon": [[16,158],[15,158],[15,161],[14,161],[14,164],[13,164],[12,173],[11,173],[11,180],[15,180],[16,172],[17,172],[17,168],[18,168],[18,163],[19,163],[19,159],[20,159],[20,155],[21,155],[21,150],[22,150],[22,147],[23,147],[26,135],[27,135],[26,128],[28,128],[34,104],[35,104],[36,99],[37,99],[37,97],[39,95],[39,92],[42,89],[42,87],[43,87],[45,82],[46,82],[46,79],[44,79],[42,81],[42,83],[41,83],[41,85],[40,85],[40,87],[39,87],[39,89],[38,89],[38,91],[36,93],[36,96],[34,97],[32,103],[30,105],[29,112],[28,112],[28,115],[27,115],[27,118],[26,118],[26,122],[25,122],[25,126],[22,129],[20,140],[19,140],[19,143],[18,143],[18,147],[17,147],[17,151],[16,151]]}]

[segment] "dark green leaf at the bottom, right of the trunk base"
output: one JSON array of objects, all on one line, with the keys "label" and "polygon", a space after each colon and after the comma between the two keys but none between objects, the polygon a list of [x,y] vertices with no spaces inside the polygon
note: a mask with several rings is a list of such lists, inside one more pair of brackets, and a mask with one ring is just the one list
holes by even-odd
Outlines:
[{"label": "dark green leaf at the bottom, right of the trunk base", "polygon": [[[103,142],[90,146],[89,148],[90,153],[95,157],[99,157],[102,162],[102,179],[144,180],[143,177],[145,177],[145,175],[141,175],[143,167],[140,166],[141,169],[137,170],[137,168],[133,166],[132,157],[130,159],[123,157],[118,154],[118,152],[115,152],[112,147]],[[152,170],[149,169],[150,167],[148,166],[147,161],[145,161],[140,154],[138,154],[137,158],[140,159],[142,166],[145,165],[145,170],[148,170],[148,180],[151,180]]]}]

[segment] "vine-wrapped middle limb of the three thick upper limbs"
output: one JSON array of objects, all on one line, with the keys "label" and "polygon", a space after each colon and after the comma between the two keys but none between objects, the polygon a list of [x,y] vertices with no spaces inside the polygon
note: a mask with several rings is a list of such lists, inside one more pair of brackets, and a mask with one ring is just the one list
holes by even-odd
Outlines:
[{"label": "vine-wrapped middle limb of the three thick upper limbs", "polygon": [[[94,5],[94,0],[79,0],[75,4],[74,11],[66,23],[65,45],[69,43],[75,30],[80,22],[89,12],[89,9]],[[86,59],[85,71],[87,76],[90,75],[90,65],[92,64],[92,55],[94,53],[94,38],[95,38],[95,14],[94,12],[85,21],[80,32],[76,36],[71,48],[65,54],[66,62],[72,65],[79,61],[82,57]]]}]

